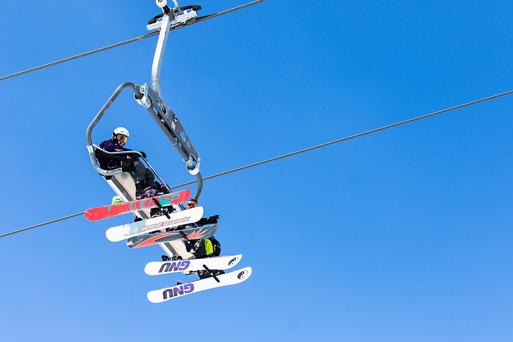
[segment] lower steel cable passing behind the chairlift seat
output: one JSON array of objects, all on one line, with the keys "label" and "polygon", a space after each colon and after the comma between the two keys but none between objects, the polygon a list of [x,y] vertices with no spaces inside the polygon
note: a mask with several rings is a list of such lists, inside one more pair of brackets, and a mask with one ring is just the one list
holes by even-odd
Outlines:
[{"label": "lower steel cable passing behind the chairlift seat", "polygon": [[[258,163],[246,165],[246,166],[243,166],[243,167],[240,167],[240,168],[236,168],[236,169],[233,169],[233,170],[229,170],[229,171],[221,172],[221,173],[218,173],[218,174],[214,174],[214,175],[211,175],[211,176],[208,176],[208,177],[204,177],[203,180],[211,179],[211,178],[215,178],[215,177],[219,177],[219,176],[223,176],[225,174],[229,174],[229,173],[233,173],[233,172],[249,169],[249,168],[252,168],[254,166],[258,166],[258,165],[274,162],[274,160],[283,159],[283,158],[290,157],[290,156],[293,156],[293,155],[296,155],[296,154],[312,151],[312,150],[315,150],[315,149],[318,149],[318,148],[321,148],[321,147],[325,147],[325,146],[329,146],[329,145],[345,142],[346,140],[349,140],[349,139],[354,139],[354,138],[357,138],[357,137],[360,137],[360,136],[364,136],[364,135],[367,135],[367,134],[376,133],[376,132],[379,132],[379,131],[384,131],[384,130],[392,128],[392,127],[397,127],[397,126],[401,126],[401,125],[404,125],[404,124],[409,124],[409,123],[412,123],[414,121],[421,120],[421,119],[424,119],[424,118],[427,118],[427,117],[430,117],[430,116],[435,116],[435,115],[438,115],[438,114],[450,112],[451,110],[460,109],[460,108],[468,107],[468,106],[471,106],[471,105],[476,105],[478,103],[485,102],[485,101],[488,101],[488,100],[491,100],[491,99],[494,99],[494,98],[497,98],[497,97],[509,95],[509,94],[513,94],[513,90],[507,91],[505,93],[497,94],[497,95],[494,95],[494,96],[485,97],[485,98],[482,98],[482,99],[477,100],[477,101],[472,101],[472,102],[466,103],[464,105],[459,105],[459,106],[456,106],[456,107],[451,107],[451,108],[444,109],[444,110],[441,110],[441,111],[438,111],[438,112],[434,112],[434,113],[431,113],[431,114],[422,115],[422,116],[419,116],[419,117],[416,117],[416,118],[412,118],[412,119],[409,119],[409,120],[402,121],[402,122],[397,123],[397,124],[392,124],[392,125],[384,126],[384,127],[381,127],[381,128],[373,129],[371,131],[364,132],[364,133],[351,135],[351,136],[348,136],[348,137],[345,137],[345,138],[342,138],[342,139],[338,139],[338,140],[333,140],[332,142],[329,142],[329,143],[313,146],[313,147],[310,147],[310,148],[307,148],[307,149],[304,149],[304,150],[299,150],[299,151],[296,151],[296,152],[292,152],[292,153],[281,155],[279,157],[274,157],[274,158],[271,158],[271,159],[263,160],[262,162],[258,162]],[[193,180],[192,182],[187,182],[187,183],[184,183],[184,184],[176,185],[176,186],[172,187],[172,189],[183,187],[183,186],[190,185],[190,184],[194,184],[196,182],[198,182],[198,180]],[[2,234],[2,235],[0,235],[0,237],[4,237],[4,236],[7,236],[7,235],[23,232],[25,230],[29,230],[29,229],[36,228],[36,227],[41,227],[41,226],[48,225],[48,224],[51,224],[51,223],[54,223],[54,222],[58,222],[58,221],[62,221],[62,220],[65,220],[65,219],[68,219],[68,218],[71,218],[71,217],[80,216],[80,215],[83,215],[83,214],[85,214],[85,212],[74,214],[74,215],[70,215],[70,216],[66,216],[66,217],[63,217],[63,218],[58,218],[58,219],[55,219],[55,220],[52,220],[52,221],[49,221],[49,222],[42,223],[40,225],[35,225],[35,226],[32,226],[32,227],[16,230],[16,231],[13,231],[13,232],[10,232],[10,233],[7,233],[7,234]]]}]

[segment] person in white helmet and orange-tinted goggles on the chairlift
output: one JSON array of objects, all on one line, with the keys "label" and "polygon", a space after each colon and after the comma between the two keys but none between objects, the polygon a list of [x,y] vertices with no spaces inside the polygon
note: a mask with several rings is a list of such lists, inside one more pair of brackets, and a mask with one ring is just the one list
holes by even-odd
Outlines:
[{"label": "person in white helmet and orange-tinted goggles on the chairlift", "polygon": [[[125,148],[125,144],[130,137],[130,133],[124,127],[118,127],[112,132],[112,138],[105,140],[99,146],[109,152],[119,151],[133,151]],[[146,158],[146,154],[141,152]],[[119,157],[132,158],[133,162],[133,176],[135,179],[135,198],[142,199],[152,196],[162,195],[163,192],[157,190],[155,184],[155,175],[147,169],[143,162],[141,162],[136,155],[118,155]],[[106,168],[108,170],[114,170],[121,167],[121,160],[106,158]]]}]

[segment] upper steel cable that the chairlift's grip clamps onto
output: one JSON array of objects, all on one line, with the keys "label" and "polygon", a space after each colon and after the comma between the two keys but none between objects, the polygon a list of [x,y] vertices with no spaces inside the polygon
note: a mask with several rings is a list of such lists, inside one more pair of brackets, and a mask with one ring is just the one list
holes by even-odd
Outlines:
[{"label": "upper steel cable that the chairlift's grip clamps onto", "polygon": [[[7,1],[7,0],[5,0],[5,1]],[[201,23],[201,22],[206,21],[207,19],[215,18],[215,17],[223,15],[223,14],[228,14],[228,13],[231,13],[231,12],[234,12],[234,11],[238,11],[240,9],[243,9],[243,8],[246,8],[246,7],[249,7],[249,6],[253,6],[253,5],[257,5],[257,4],[263,3],[265,1],[267,1],[267,0],[257,0],[257,1],[253,1],[253,2],[245,4],[245,5],[234,7],[232,9],[229,9],[229,10],[226,10],[226,11],[223,11],[223,12],[201,16],[201,17],[196,18],[196,20],[193,23],[184,24],[184,25],[179,26],[179,27],[173,27],[169,31],[181,29],[181,28],[184,28],[186,26],[194,25],[196,23]],[[54,65],[57,65],[57,64],[69,62],[69,61],[72,61],[73,59],[77,59],[77,58],[85,57],[85,56],[88,56],[88,55],[92,55],[93,53],[96,53],[96,52],[101,52],[101,51],[109,50],[109,49],[112,49],[112,48],[117,48],[119,46],[126,45],[126,44],[129,44],[129,43],[141,41],[142,39],[146,39],[146,38],[152,37],[152,36],[157,35],[157,34],[159,34],[158,30],[152,31],[152,32],[143,34],[140,37],[129,39],[128,41],[112,44],[112,45],[109,45],[109,46],[106,46],[106,47],[103,47],[103,48],[100,48],[100,49],[91,50],[91,51],[84,52],[84,53],[81,53],[81,54],[78,54],[78,55],[75,55],[75,56],[72,56],[72,57],[60,59],[60,60],[52,62],[52,63],[44,64],[44,65],[41,65],[41,66],[38,66],[38,67],[35,67],[35,68],[31,68],[31,69],[27,69],[27,70],[24,70],[24,71],[16,72],[16,73],[11,74],[11,75],[3,76],[3,77],[0,77],[0,81],[4,81],[5,79],[16,77],[16,76],[19,76],[19,75],[27,74],[27,73],[32,72],[32,71],[48,68],[48,67],[51,67],[51,66],[54,66]]]}]

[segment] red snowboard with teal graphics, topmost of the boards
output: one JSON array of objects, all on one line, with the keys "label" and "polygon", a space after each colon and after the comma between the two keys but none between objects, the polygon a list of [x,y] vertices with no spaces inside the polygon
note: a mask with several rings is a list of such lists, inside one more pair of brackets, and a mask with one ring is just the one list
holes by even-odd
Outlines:
[{"label": "red snowboard with teal graphics, topmost of the boards", "polygon": [[173,204],[181,204],[189,198],[190,194],[190,190],[182,190],[161,196],[137,199],[130,202],[113,204],[104,207],[91,208],[86,211],[86,218],[90,221],[97,221],[133,211],[157,208],[158,206],[153,199],[155,199],[161,207],[171,206]]}]

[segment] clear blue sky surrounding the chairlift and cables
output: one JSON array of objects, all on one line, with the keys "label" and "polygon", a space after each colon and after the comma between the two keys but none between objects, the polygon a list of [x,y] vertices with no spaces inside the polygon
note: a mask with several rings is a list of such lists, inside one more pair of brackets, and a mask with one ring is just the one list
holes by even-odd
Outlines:
[{"label": "clear blue sky surrounding the chairlift and cables", "polygon": [[[9,0],[0,76],[143,35],[159,11]],[[163,97],[208,176],[512,90],[512,15],[510,1],[269,0],[172,32]],[[0,82],[1,233],[110,203],[85,130],[117,86],[150,82],[155,45]],[[169,184],[194,179],[132,96],[95,142],[127,127]],[[150,303],[188,278],[144,273],[160,247],[105,238],[131,215],[4,237],[0,339],[513,340],[512,96],[205,181],[222,254],[253,268],[241,285]]]}]

